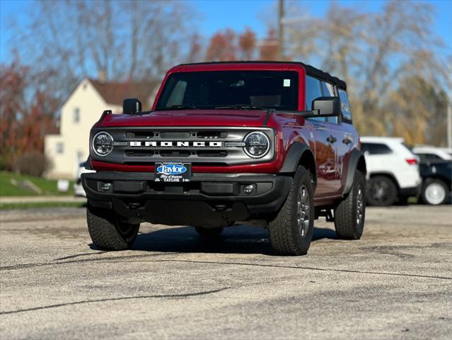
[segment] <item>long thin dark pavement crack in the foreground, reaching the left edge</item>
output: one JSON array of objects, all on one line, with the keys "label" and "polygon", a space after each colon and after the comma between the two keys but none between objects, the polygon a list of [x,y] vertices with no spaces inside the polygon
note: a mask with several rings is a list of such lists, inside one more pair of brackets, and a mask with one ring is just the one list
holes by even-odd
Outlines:
[{"label": "long thin dark pavement crack in the foreground, reaching the left edge", "polygon": [[110,297],[110,298],[96,299],[96,300],[81,300],[81,301],[74,301],[74,302],[58,303],[55,305],[24,308],[22,310],[8,310],[6,312],[0,312],[0,315],[16,314],[16,313],[21,313],[21,312],[33,312],[35,310],[48,310],[48,309],[57,308],[57,307],[66,307],[66,306],[72,306],[72,305],[84,305],[86,303],[97,303],[97,302],[107,302],[107,301],[193,297],[193,296],[199,296],[199,295],[208,295],[208,294],[219,293],[219,292],[222,292],[229,288],[231,288],[231,287],[224,287],[224,288],[215,289],[215,290],[204,290],[202,292],[185,293],[185,294],[139,295],[139,296]]}]

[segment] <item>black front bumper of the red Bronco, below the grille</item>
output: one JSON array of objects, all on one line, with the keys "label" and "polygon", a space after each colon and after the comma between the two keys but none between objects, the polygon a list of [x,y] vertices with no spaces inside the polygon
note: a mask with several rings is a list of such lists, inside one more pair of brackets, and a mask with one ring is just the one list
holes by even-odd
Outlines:
[{"label": "black front bumper of the red Bronco, below the grille", "polygon": [[[292,181],[291,176],[274,174],[196,173],[185,183],[155,182],[153,177],[101,171],[82,174],[81,182],[90,205],[115,210],[131,222],[224,227],[274,215]],[[105,183],[110,183],[108,190]],[[247,185],[253,185],[253,193],[244,192]]]}]

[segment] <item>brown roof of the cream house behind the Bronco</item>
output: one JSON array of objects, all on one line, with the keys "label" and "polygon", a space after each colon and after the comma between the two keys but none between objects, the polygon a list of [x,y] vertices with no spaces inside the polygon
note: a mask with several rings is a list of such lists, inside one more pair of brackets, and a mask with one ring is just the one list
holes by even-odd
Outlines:
[{"label": "brown roof of the cream house behind the Bronco", "polygon": [[151,108],[151,97],[156,87],[159,85],[158,81],[127,81],[124,83],[112,81],[98,81],[96,79],[88,79],[105,103],[115,106],[122,106],[124,98],[138,98],[143,110]]}]

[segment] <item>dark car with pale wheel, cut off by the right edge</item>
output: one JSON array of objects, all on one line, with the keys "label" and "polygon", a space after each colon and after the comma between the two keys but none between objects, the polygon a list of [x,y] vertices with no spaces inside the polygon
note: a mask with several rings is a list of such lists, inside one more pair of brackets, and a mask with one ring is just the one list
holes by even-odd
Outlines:
[{"label": "dark car with pale wheel, cut off by the right edge", "polygon": [[419,165],[422,203],[439,205],[451,201],[452,161],[434,160]]}]

